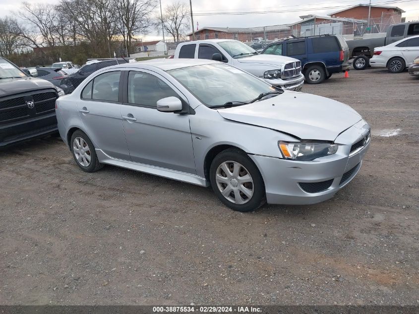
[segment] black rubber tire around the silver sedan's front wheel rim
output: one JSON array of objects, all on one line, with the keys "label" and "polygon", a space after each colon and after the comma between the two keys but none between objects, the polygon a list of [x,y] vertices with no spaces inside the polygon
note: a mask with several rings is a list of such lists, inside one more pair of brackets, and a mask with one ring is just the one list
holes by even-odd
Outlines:
[{"label": "black rubber tire around the silver sedan's front wheel rim", "polygon": [[[240,178],[240,173],[244,175],[247,173],[250,175],[250,178],[253,181],[253,183],[250,184],[249,182],[246,182],[242,184],[244,188],[248,188],[253,191],[253,194],[250,196],[250,198],[245,196],[245,194],[239,190],[240,188],[238,186],[239,184],[238,180],[233,182],[233,180],[235,180],[234,176],[232,177],[233,179],[230,180],[229,176],[226,173],[224,173],[226,175],[226,179],[229,180],[229,184],[217,183],[216,181],[217,171],[220,171],[220,172],[223,171],[223,170],[219,170],[219,167],[221,167],[223,163],[226,163],[226,165],[230,165],[231,163],[228,163],[229,161],[240,164],[239,166],[238,165],[235,166],[235,167],[238,167],[239,169],[237,178]],[[234,168],[229,167],[229,169],[234,169]],[[263,178],[260,175],[259,170],[257,169],[256,165],[253,163],[253,161],[249,158],[249,156],[247,156],[243,151],[239,149],[229,148],[222,151],[217,156],[215,156],[214,160],[211,163],[209,175],[210,175],[211,187],[214,190],[214,193],[226,206],[230,207],[233,210],[237,210],[241,212],[253,211],[259,208],[260,206],[262,206],[266,202],[265,185],[263,183]],[[236,184],[236,186],[234,184]],[[237,192],[239,193],[240,199],[243,200],[244,198],[245,202],[242,204],[238,204],[236,202],[233,202],[227,199],[227,197],[225,197],[222,194],[219,188],[219,185],[221,186],[221,188],[224,188],[224,189],[229,188],[229,190],[232,190],[231,193],[228,195],[228,197],[236,198],[236,192]],[[244,185],[247,185],[247,186],[244,186]]]}]

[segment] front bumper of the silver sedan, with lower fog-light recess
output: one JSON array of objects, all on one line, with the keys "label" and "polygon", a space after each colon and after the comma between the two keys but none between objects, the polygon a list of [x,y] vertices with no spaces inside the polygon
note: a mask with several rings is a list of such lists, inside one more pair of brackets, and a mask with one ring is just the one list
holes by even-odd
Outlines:
[{"label": "front bumper of the silver sedan, with lower fog-light recess", "polygon": [[[331,198],[359,172],[362,159],[370,144],[351,152],[353,145],[369,131],[369,126],[353,126],[335,140],[336,154],[313,161],[293,161],[259,155],[249,155],[263,177],[269,204],[314,204]],[[341,144],[339,138],[346,142]],[[352,139],[351,139],[352,138]]]}]

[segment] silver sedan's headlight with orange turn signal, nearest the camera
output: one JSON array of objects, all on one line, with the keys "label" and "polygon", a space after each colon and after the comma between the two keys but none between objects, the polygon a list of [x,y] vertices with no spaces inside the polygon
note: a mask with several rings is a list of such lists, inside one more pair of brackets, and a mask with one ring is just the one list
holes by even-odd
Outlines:
[{"label": "silver sedan's headlight with orange turn signal, nearest the camera", "polygon": [[338,151],[338,145],[332,143],[278,142],[278,147],[284,158],[291,160],[314,160],[333,155]]}]

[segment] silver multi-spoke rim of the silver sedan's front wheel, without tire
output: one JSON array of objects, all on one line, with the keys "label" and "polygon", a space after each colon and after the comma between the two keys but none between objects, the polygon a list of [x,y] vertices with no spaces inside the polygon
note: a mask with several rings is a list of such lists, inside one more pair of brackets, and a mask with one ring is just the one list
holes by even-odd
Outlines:
[{"label": "silver multi-spoke rim of the silver sedan's front wheel, without tire", "polygon": [[247,169],[236,161],[218,166],[215,180],[221,194],[235,204],[245,204],[253,196],[253,179]]}]

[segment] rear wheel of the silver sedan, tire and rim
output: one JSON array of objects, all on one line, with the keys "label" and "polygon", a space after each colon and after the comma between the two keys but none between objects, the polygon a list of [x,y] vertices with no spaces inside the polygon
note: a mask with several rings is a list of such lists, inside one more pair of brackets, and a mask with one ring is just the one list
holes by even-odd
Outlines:
[{"label": "rear wheel of the silver sedan, tire and rim", "polygon": [[74,161],[81,170],[95,172],[103,168],[104,164],[99,162],[95,146],[93,146],[92,141],[83,131],[76,130],[71,135],[70,149]]}]

